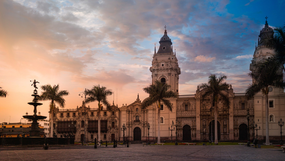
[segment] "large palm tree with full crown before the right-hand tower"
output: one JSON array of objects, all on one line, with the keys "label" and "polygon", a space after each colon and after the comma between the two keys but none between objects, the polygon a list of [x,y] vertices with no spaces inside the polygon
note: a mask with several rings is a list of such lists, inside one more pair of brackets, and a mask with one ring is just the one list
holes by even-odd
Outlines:
[{"label": "large palm tree with full crown before the right-hand tower", "polygon": [[266,145],[269,145],[269,127],[268,127],[268,92],[269,86],[275,88],[285,87],[283,79],[283,72],[280,71],[280,62],[275,61],[275,55],[253,64],[253,70],[248,75],[253,79],[253,84],[249,84],[246,94],[247,99],[250,100],[258,92],[265,95],[265,122],[266,122]]}]

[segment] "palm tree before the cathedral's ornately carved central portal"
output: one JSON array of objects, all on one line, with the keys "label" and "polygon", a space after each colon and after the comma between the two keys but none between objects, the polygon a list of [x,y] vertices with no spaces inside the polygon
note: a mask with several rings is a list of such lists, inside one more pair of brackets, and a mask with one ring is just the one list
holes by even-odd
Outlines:
[{"label": "palm tree before the cathedral's ornately carved central portal", "polygon": [[230,105],[229,98],[223,91],[229,89],[229,84],[225,82],[227,76],[222,74],[219,78],[215,74],[209,75],[209,80],[207,83],[199,84],[201,90],[205,89],[201,98],[212,97],[215,102],[214,115],[215,115],[215,144],[218,144],[218,134],[217,134],[217,101],[221,98],[224,105],[228,108]]}]

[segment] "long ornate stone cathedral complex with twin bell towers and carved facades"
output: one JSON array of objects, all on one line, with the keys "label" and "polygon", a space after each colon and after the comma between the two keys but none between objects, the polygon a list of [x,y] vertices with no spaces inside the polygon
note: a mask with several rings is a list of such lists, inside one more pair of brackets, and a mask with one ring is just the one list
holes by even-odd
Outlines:
[{"label": "long ornate stone cathedral complex with twin bell towers and carved facades", "polygon": [[[260,61],[274,54],[274,51],[264,47],[259,43],[259,37],[263,34],[273,35],[274,31],[268,26],[260,30],[258,35],[258,45],[255,47],[253,60],[250,64]],[[172,41],[164,31],[160,38],[160,45],[152,59],[150,67],[152,83],[159,80],[171,85],[170,90],[179,93],[179,75],[181,74],[179,61],[176,58],[176,52],[173,52]],[[246,87],[245,87],[246,88]],[[285,117],[285,93],[283,89],[272,88],[269,92],[269,136],[270,139],[279,140],[280,131],[278,120]],[[258,93],[252,100],[246,99],[245,93],[234,93],[234,86],[230,85],[228,90],[223,91],[230,101],[230,106],[226,107],[222,100],[217,101],[217,125],[214,123],[213,107],[215,102],[212,98],[201,99],[203,90],[197,87],[195,94],[178,95],[178,98],[169,99],[173,105],[170,112],[161,104],[160,118],[157,118],[158,109],[156,104],[142,109],[142,102],[137,96],[136,101],[127,105],[118,107],[114,103],[111,111],[101,110],[101,140],[111,141],[129,140],[157,142],[158,123],[160,124],[160,140],[190,141],[209,141],[211,136],[215,138],[215,126],[217,126],[217,138],[220,142],[247,140],[247,128],[250,128],[250,139],[258,137],[265,140],[265,96]],[[58,137],[64,137],[68,133],[75,135],[75,141],[90,141],[98,138],[98,109],[82,106],[76,109],[54,109],[53,125],[54,131]],[[51,111],[50,111],[51,118]],[[249,121],[248,121],[249,118]],[[284,119],[285,120],[285,119]],[[249,122],[249,124],[248,124]],[[97,124],[96,124],[97,123]],[[170,127],[176,124],[172,132]],[[253,126],[260,126],[258,135]],[[122,130],[125,126],[125,130]],[[149,127],[149,128],[148,128]],[[172,128],[171,128],[172,129]]]}]

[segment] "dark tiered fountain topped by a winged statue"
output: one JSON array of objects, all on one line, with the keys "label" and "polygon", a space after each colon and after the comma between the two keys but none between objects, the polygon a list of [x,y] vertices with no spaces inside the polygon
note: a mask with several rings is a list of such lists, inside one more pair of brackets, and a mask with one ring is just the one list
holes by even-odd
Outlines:
[{"label": "dark tiered fountain topped by a winged statue", "polygon": [[[30,82],[32,82],[32,81],[30,81]],[[38,103],[38,98],[37,97],[40,97],[40,96],[38,95],[38,91],[36,90],[36,89],[38,89],[36,87],[36,83],[39,83],[39,82],[36,82],[36,79],[34,79],[34,82],[32,84],[32,85],[34,85],[34,88],[35,88],[34,94],[32,94],[34,99],[33,99],[32,102],[28,103],[29,105],[34,106],[34,115],[25,115],[25,116],[23,116],[23,118],[27,118],[27,119],[33,120],[32,125],[31,125],[31,130],[30,130],[30,137],[40,137],[40,130],[38,128],[38,124],[39,124],[38,120],[47,118],[46,116],[38,116],[36,114],[36,112],[37,112],[36,107],[42,105],[42,103]]]}]

